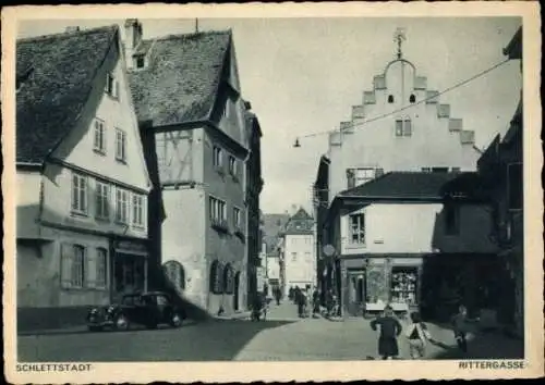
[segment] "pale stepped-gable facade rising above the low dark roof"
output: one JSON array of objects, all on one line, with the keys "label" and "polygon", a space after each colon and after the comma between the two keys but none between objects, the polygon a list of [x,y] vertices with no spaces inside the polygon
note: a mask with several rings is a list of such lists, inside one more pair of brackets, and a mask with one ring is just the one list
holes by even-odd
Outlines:
[{"label": "pale stepped-gable facade rising above the low dark roof", "polygon": [[475,171],[474,132],[438,94],[399,48],[350,120],[329,135],[329,202],[387,172]]}]

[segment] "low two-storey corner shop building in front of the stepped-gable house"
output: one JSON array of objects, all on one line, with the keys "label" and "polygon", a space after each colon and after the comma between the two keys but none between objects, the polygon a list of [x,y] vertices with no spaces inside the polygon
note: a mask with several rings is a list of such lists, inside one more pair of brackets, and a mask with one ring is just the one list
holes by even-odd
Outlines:
[{"label": "low two-storey corner shop building in front of the stepped-gable house", "polygon": [[497,248],[486,239],[489,204],[447,194],[459,178],[474,174],[392,172],[335,198],[326,233],[338,250],[329,269],[338,272],[343,314],[392,303],[448,319],[460,301],[471,310],[489,306],[493,298],[480,298],[480,290],[493,293],[498,283],[475,281],[499,270]]}]

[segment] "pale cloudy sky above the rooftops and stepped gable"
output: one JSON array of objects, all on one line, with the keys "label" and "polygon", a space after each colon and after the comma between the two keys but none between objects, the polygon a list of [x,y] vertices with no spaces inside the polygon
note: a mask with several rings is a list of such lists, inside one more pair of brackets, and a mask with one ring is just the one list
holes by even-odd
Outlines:
[{"label": "pale cloudy sky above the rooftops and stepped gable", "polygon": [[[142,18],[144,38],[192,33],[195,20]],[[19,37],[119,24],[123,20],[32,21]],[[199,30],[232,29],[242,97],[263,129],[261,209],[265,213],[312,209],[312,184],[327,152],[327,135],[350,119],[351,107],[373,89],[373,77],[395,58],[396,28],[405,29],[403,57],[443,90],[506,59],[502,49],[519,17],[199,18]],[[123,35],[123,34],[122,34]],[[475,132],[485,148],[505,134],[520,98],[520,63],[497,70],[440,97]],[[372,116],[368,116],[372,117]],[[301,147],[294,148],[301,137]],[[432,145],[432,144],[431,144]],[[312,212],[312,211],[310,211]]]}]

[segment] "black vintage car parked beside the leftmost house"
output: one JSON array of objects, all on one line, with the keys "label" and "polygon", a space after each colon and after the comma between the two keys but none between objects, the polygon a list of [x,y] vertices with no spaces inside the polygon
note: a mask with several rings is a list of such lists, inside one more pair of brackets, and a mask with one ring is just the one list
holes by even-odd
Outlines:
[{"label": "black vintage car parked beside the leftmost house", "polygon": [[89,331],[113,328],[126,331],[131,324],[156,328],[159,324],[181,326],[185,312],[162,291],[124,295],[119,305],[93,308],[87,314]]}]

